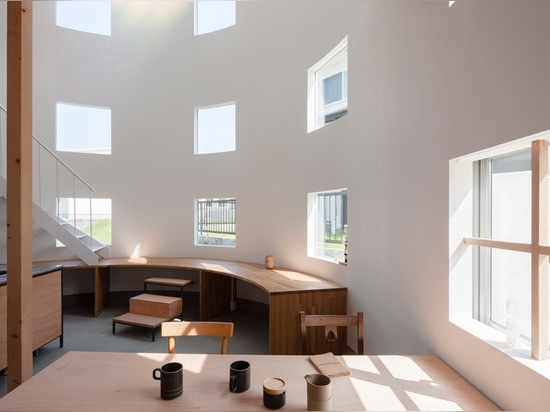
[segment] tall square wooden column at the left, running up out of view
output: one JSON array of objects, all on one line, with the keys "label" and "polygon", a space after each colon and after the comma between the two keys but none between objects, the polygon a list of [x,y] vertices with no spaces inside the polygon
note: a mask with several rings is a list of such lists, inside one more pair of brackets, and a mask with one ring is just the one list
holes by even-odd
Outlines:
[{"label": "tall square wooden column at the left, running up out of view", "polygon": [[7,2],[8,391],[32,376],[32,1]]}]

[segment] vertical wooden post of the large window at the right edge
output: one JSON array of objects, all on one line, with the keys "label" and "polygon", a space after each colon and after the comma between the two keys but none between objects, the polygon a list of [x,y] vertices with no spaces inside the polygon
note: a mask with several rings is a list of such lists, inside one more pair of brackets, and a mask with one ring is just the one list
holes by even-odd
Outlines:
[{"label": "vertical wooden post of the large window at the right edge", "polygon": [[539,246],[548,244],[548,141],[531,145],[531,356],[548,359],[548,256]]}]

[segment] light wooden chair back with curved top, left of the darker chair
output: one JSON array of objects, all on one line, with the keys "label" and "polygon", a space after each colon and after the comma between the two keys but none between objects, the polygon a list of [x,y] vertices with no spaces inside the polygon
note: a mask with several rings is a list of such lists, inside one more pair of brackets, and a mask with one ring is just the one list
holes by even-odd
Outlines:
[{"label": "light wooden chair back with curved top, left of the darker chair", "polygon": [[219,336],[220,353],[227,350],[227,338],[233,336],[232,322],[162,322],[161,336],[168,337],[168,353],[176,352],[176,336]]}]

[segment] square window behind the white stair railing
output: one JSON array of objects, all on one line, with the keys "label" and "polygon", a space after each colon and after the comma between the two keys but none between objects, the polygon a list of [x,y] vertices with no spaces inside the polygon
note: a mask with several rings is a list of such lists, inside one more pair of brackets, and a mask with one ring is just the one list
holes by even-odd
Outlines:
[{"label": "square window behind the white stair railing", "polygon": [[111,244],[111,199],[61,197],[57,199],[57,216],[78,233]]}]

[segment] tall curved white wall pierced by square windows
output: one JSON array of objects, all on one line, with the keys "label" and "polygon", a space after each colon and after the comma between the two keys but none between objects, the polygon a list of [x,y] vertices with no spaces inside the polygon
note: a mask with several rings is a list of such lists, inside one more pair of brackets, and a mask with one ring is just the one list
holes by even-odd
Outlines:
[{"label": "tall curved white wall pierced by square windows", "polygon": [[[35,3],[55,42],[35,49],[34,129],[54,147],[56,99],[112,107],[111,156],[63,154],[113,199],[110,256],[274,254],[348,286],[368,353],[435,353],[503,408],[550,407],[548,379],[448,320],[448,161],[550,128],[550,2],[242,1],[197,38],[191,2],[117,1],[110,42],[53,30],[51,8]],[[346,34],[349,113],[307,134],[307,69]],[[193,108],[229,100],[237,151],[194,156]],[[306,253],[307,193],[341,187],[347,268]],[[237,248],[193,245],[209,196],[237,198]]]}]

